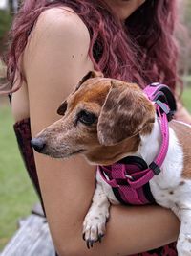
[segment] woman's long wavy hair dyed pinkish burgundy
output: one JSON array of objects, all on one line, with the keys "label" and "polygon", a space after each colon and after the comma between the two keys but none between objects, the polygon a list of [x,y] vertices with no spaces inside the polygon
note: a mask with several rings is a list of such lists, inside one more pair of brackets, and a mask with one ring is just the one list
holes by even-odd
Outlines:
[{"label": "woman's long wavy hair dyed pinkish burgundy", "polygon": [[137,82],[140,87],[160,81],[174,90],[178,80],[175,2],[146,0],[122,23],[103,0],[25,0],[12,25],[6,59],[11,91],[18,89],[17,71],[18,78],[25,79],[19,58],[38,16],[57,6],[68,6],[82,18],[91,35],[90,58],[106,77]]}]

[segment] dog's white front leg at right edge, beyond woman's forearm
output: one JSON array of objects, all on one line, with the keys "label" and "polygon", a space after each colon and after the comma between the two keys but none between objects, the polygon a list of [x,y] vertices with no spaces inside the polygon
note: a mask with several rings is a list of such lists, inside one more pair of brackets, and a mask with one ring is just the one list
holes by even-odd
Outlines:
[{"label": "dog's white front leg at right edge, beyond woman's forearm", "polygon": [[177,249],[179,256],[191,255],[191,208],[183,208],[180,210],[180,235],[178,239]]}]

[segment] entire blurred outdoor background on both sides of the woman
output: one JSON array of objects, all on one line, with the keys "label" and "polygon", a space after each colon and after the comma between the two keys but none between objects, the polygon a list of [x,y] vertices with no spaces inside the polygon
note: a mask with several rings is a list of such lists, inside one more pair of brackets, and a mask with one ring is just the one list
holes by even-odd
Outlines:
[{"label": "entire blurred outdoor background on both sides of the woman", "polygon": [[[19,0],[0,0],[0,83],[6,79],[1,58],[8,45],[8,31]],[[182,102],[191,111],[191,1],[179,0],[180,20],[185,27],[180,39],[180,71],[184,82]],[[183,38],[183,39],[182,39]],[[184,68],[182,68],[184,67]],[[17,149],[7,97],[0,96],[0,251],[17,229],[18,221],[31,212],[38,199]]]}]

